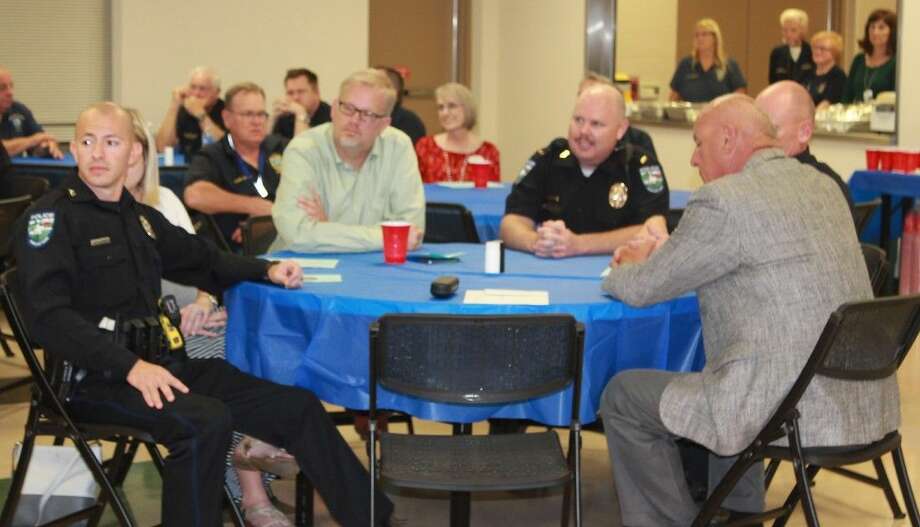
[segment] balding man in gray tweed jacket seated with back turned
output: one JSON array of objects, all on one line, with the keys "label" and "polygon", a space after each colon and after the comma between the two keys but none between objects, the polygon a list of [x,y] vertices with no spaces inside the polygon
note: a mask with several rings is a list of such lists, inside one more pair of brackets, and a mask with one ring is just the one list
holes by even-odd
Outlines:
[{"label": "balding man in gray tweed jacket seated with back turned", "polygon": [[[843,195],[776,148],[773,126],[749,97],[716,99],[694,141],[692,164],[705,184],[680,225],[670,238],[650,228],[619,248],[603,283],[637,306],[696,291],[706,343],[702,372],[625,371],[604,392],[601,415],[629,526],[689,525],[697,506],[676,440],[718,456],[739,453],[785,397],[830,313],[872,297]],[[799,409],[806,445],[867,443],[897,428],[897,384],[819,378]],[[726,508],[762,510],[762,472],[749,474]]]}]

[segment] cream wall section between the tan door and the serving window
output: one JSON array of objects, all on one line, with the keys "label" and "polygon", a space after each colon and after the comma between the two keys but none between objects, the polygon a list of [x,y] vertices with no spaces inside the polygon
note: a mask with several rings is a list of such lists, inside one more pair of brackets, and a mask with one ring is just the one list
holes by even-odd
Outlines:
[{"label": "cream wall section between the tan door and the serving window", "polygon": [[473,0],[479,131],[501,149],[502,179],[566,134],[584,74],[584,20],[584,2]]}]

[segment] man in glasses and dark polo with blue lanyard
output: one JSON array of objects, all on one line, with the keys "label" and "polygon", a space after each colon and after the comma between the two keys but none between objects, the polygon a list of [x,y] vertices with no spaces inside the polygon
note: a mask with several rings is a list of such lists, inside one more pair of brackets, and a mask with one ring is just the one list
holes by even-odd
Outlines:
[{"label": "man in glasses and dark polo with blue lanyard", "polygon": [[238,249],[240,224],[271,214],[287,139],[268,135],[265,92],[258,85],[237,84],[226,98],[228,133],[192,158],[184,198],[189,208],[213,215],[224,239]]}]

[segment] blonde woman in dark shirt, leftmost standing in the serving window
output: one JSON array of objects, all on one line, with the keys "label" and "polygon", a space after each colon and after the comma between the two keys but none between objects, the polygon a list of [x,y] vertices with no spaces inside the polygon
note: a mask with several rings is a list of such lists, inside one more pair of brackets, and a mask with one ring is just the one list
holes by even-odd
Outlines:
[{"label": "blonde woman in dark shirt, leftmost standing in the serving window", "polygon": [[672,101],[709,102],[726,93],[746,93],[747,81],[738,63],[725,56],[722,31],[711,18],[696,23],[693,50],[671,78]]}]

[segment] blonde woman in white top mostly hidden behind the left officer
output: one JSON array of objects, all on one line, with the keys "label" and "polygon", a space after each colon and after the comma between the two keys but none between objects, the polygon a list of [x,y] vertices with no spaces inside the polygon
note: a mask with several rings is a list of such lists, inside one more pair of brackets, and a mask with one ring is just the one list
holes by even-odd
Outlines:
[{"label": "blonde woman in white top mostly hidden behind the left officer", "polygon": [[[173,225],[194,233],[192,220],[188,211],[176,195],[166,187],[160,186],[160,173],[157,156],[152,150],[153,135],[144,125],[137,110],[128,110],[134,123],[134,137],[141,144],[143,156],[128,167],[125,188],[135,200],[146,203],[160,211]],[[194,287],[163,281],[163,294],[176,297],[182,313],[181,330],[186,337],[186,351],[193,358],[210,358],[224,356],[224,326],[227,315],[217,309],[217,303],[204,291]],[[247,525],[251,527],[288,527],[292,523],[272,505],[262,483],[262,473],[257,469],[257,457],[275,462],[275,467],[296,473],[293,457],[266,443],[250,437],[243,437],[234,462],[248,466],[237,467],[241,490],[242,510]],[[278,463],[286,464],[282,467]],[[276,470],[280,471],[280,470]],[[289,474],[288,474],[289,475]]]}]

